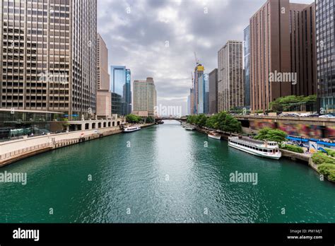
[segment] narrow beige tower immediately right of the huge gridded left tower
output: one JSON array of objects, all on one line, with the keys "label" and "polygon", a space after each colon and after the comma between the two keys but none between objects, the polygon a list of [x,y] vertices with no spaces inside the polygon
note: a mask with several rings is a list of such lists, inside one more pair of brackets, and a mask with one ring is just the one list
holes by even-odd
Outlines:
[{"label": "narrow beige tower immediately right of the huge gridded left tower", "polygon": [[108,74],[108,49],[99,33],[97,41],[97,116],[99,119],[107,119],[112,117],[112,94],[110,92],[110,74]]}]

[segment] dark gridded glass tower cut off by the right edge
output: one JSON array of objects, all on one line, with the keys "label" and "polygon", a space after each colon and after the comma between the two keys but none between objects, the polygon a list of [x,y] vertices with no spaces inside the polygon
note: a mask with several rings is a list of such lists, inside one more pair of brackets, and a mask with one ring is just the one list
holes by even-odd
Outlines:
[{"label": "dark gridded glass tower cut off by the right edge", "polygon": [[322,113],[335,111],[334,0],[316,1],[317,98]]}]

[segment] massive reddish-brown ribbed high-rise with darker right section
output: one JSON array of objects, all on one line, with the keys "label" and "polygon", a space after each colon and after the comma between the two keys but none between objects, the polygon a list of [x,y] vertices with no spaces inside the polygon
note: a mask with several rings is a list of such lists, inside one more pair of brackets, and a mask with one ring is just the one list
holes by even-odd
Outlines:
[{"label": "massive reddish-brown ribbed high-rise with darker right section", "polygon": [[314,20],[314,4],[289,0],[268,0],[250,18],[252,110],[268,110],[286,95],[316,93]]}]

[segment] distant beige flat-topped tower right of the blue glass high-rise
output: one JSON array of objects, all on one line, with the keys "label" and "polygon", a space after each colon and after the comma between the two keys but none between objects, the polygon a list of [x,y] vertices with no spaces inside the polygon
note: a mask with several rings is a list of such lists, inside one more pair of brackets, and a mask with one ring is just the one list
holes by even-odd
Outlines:
[{"label": "distant beige flat-topped tower right of the blue glass high-rise", "polygon": [[134,114],[154,117],[155,106],[157,106],[157,95],[153,78],[146,78],[146,81],[134,81]]}]

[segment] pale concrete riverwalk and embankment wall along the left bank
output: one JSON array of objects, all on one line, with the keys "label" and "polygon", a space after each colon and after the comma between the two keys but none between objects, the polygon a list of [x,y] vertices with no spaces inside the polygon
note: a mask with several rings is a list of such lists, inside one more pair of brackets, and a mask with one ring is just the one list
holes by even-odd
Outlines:
[{"label": "pale concrete riverwalk and embankment wall along the left bank", "polygon": [[[151,127],[154,124],[141,124],[141,128]],[[62,134],[49,134],[25,139],[7,141],[0,144],[0,168],[15,163],[18,160],[35,156],[40,153],[63,148],[84,141],[100,139],[122,133],[119,127],[107,127],[104,129],[91,129],[84,131],[70,131]]]}]

